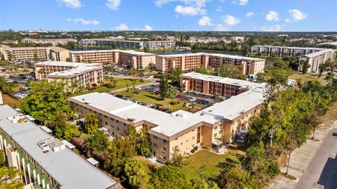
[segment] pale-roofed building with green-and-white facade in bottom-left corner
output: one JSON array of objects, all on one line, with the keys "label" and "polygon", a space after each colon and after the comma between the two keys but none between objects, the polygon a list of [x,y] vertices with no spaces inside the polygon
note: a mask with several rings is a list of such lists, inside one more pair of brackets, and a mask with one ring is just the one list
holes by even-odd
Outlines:
[{"label": "pale-roofed building with green-and-white facade in bottom-left corner", "polygon": [[121,185],[57,138],[37,126],[29,116],[0,105],[0,149],[9,167],[16,167],[27,188],[101,188]]}]

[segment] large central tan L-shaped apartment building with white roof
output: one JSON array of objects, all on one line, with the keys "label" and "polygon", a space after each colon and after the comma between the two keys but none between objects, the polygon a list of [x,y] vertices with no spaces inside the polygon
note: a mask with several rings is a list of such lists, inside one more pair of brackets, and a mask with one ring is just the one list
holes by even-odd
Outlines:
[{"label": "large central tan L-shaped apartment building with white roof", "polygon": [[[209,76],[199,77],[207,80]],[[168,114],[107,93],[89,93],[68,100],[79,117],[86,113],[98,115],[100,126],[112,136],[126,136],[127,125],[137,131],[148,126],[154,157],[170,159],[174,148],[187,153],[194,146],[218,150],[223,143],[232,143],[237,133],[249,129],[263,103],[264,84],[232,83],[241,81],[236,80],[228,82],[233,85],[231,98],[194,113],[178,110]]]}]

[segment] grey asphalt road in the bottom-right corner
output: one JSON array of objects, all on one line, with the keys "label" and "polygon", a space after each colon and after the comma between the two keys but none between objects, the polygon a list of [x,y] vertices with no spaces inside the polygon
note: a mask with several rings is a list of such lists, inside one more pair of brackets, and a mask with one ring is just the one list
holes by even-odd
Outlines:
[{"label": "grey asphalt road in the bottom-right corner", "polygon": [[[333,136],[336,133],[336,136]],[[308,165],[296,189],[337,188],[337,129],[331,129]]]}]

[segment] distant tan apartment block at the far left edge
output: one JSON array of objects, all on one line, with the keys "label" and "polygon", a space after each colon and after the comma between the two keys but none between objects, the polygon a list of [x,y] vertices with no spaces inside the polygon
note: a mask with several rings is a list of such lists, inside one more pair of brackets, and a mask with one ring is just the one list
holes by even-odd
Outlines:
[{"label": "distant tan apartment block at the far left edge", "polygon": [[48,47],[10,47],[1,45],[0,53],[3,54],[4,60],[48,60],[50,48]]}]

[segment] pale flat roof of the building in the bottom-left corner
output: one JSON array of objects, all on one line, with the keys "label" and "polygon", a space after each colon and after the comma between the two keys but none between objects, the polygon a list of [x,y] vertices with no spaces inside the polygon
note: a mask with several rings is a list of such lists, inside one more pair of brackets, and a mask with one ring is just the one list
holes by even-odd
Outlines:
[{"label": "pale flat roof of the building in the bottom-left corner", "polygon": [[18,115],[18,112],[9,105],[0,105],[0,112],[1,129],[55,178],[60,183],[60,188],[105,189],[117,183],[68,148],[58,152],[43,152],[37,143],[53,136],[30,121],[23,124],[12,123],[8,117]]}]

